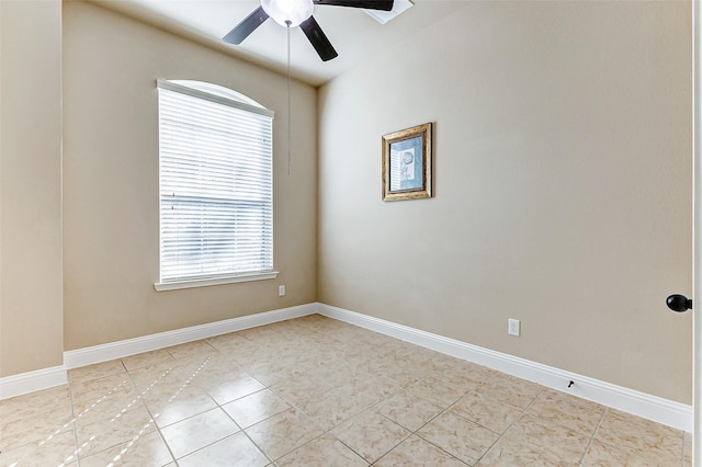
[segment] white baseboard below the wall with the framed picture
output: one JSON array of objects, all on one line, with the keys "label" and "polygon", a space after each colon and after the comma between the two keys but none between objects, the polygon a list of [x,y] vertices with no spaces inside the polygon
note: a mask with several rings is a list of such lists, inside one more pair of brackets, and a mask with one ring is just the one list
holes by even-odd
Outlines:
[{"label": "white baseboard below the wall with the framed picture", "polygon": [[[317,305],[317,312],[678,430],[692,432],[692,406],[325,304]],[[570,381],[574,384],[568,388]]]}]

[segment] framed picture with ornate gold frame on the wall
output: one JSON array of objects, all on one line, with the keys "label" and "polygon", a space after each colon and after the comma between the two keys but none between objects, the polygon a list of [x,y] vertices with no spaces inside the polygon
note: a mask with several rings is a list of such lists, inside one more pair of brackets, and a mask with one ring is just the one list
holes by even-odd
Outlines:
[{"label": "framed picture with ornate gold frame on the wall", "polygon": [[383,136],[383,201],[431,197],[433,124]]}]

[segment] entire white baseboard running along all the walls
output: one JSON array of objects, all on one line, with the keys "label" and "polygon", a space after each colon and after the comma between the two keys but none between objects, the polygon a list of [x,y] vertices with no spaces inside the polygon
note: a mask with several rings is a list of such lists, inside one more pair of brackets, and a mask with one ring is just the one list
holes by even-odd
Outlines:
[{"label": "entire white baseboard running along all the walls", "polygon": [[[552,389],[568,392],[679,430],[692,432],[692,406],[650,396],[541,363],[325,304],[299,305],[64,352],[63,366],[0,378],[0,400],[63,385],[67,381],[67,369],[70,368],[122,358],[137,353],[159,350],[314,314],[324,315],[371,331],[381,332],[427,349],[524,378]],[[575,381],[575,384],[568,388],[568,383],[571,380]]]}]

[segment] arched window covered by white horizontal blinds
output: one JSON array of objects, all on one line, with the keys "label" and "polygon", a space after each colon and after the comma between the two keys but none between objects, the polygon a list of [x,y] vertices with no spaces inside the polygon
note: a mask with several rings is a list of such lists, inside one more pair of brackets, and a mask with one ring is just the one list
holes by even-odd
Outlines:
[{"label": "arched window covered by white horizontal blinds", "polygon": [[158,291],[273,278],[273,112],[226,88],[158,81]]}]

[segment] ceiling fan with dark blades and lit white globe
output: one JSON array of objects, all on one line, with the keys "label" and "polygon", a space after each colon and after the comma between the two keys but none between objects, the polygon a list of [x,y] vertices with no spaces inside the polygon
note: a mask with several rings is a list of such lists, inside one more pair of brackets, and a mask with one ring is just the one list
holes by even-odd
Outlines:
[{"label": "ceiling fan with dark blades and lit white globe", "polygon": [[265,20],[272,18],[284,27],[299,26],[322,61],[337,57],[337,50],[312,15],[316,4],[393,10],[394,0],[261,0],[261,5],[231,30],[223,41],[239,45]]}]

